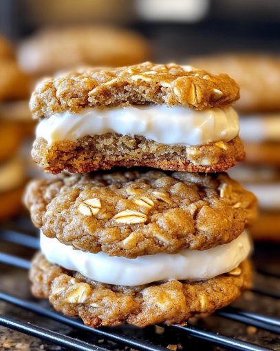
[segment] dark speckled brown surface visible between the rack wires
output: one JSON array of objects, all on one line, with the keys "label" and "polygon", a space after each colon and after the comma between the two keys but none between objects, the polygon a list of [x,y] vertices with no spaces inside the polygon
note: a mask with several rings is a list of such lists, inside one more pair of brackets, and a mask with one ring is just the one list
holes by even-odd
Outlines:
[{"label": "dark speckled brown surface visible between the rack wires", "polygon": [[[34,250],[1,241],[1,228],[4,226],[6,228],[10,227],[17,230],[19,230],[20,227],[23,232],[36,235],[34,229],[30,227],[28,220],[17,219],[11,221],[10,223],[0,224],[0,251],[8,252],[25,259],[30,259],[34,253]],[[253,257],[255,266],[261,270],[266,270],[274,273],[279,272],[280,260],[277,258],[279,250],[280,246],[277,245],[257,245],[256,252]],[[280,279],[276,279],[274,277],[264,277],[261,274],[255,274],[255,284],[261,288],[271,288],[274,292],[280,292]],[[34,297],[32,297],[30,294],[28,272],[25,270],[19,268],[11,268],[8,265],[0,264],[0,291],[12,294],[16,297],[28,299],[30,301],[36,301],[41,305],[45,305],[46,307],[51,308],[48,301],[36,300]],[[259,312],[280,318],[280,300],[274,299],[272,297],[265,297],[253,292],[246,292],[243,297],[241,297],[233,305],[243,310],[250,310],[252,312]],[[54,322],[49,319],[40,317],[32,312],[17,308],[14,305],[3,301],[0,301],[0,314],[4,314],[14,319],[27,321],[35,325],[39,325],[43,328],[49,328],[56,332],[62,332],[69,337],[74,337],[83,341],[87,341],[91,344],[99,345],[103,348],[106,348],[107,350],[130,351],[129,348],[123,345],[104,340],[103,338],[95,336],[94,334],[89,335],[74,328],[69,328],[62,323]],[[202,328],[219,332],[219,334],[236,337],[237,339],[250,341],[251,343],[258,343],[259,345],[266,346],[272,350],[280,350],[280,335],[256,329],[250,325],[237,323],[217,316],[206,317],[200,321],[193,319],[192,323]],[[182,333],[172,332],[171,330],[168,330],[168,328],[162,330],[161,328],[151,326],[141,329],[133,327],[131,325],[121,325],[120,327],[114,329],[124,334],[133,335],[133,337],[152,341],[153,343],[162,345],[164,347],[169,346],[169,348],[172,350],[175,350],[176,348],[178,351],[224,350],[222,348],[218,348],[212,343],[208,343],[207,341],[188,337]],[[0,326],[0,350],[51,351],[63,349],[51,343],[47,343],[34,337],[29,337],[25,334],[14,332],[8,328],[3,328]]]}]

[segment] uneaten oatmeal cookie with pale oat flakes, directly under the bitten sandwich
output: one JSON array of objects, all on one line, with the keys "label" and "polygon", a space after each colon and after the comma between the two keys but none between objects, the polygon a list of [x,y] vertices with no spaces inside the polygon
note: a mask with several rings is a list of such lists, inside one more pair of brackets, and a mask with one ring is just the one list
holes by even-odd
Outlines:
[{"label": "uneaten oatmeal cookie with pale oat flakes, directly under the bitten sandwich", "polygon": [[47,237],[133,259],[230,243],[255,217],[257,200],[226,173],[149,171],[32,181],[25,204]]}]

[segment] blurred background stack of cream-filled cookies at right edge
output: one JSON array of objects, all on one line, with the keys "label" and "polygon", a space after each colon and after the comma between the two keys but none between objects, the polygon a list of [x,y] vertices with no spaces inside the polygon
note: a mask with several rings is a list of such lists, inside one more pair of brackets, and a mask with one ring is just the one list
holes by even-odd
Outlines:
[{"label": "blurred background stack of cream-filled cookies at right edge", "polygon": [[260,54],[204,57],[193,63],[226,72],[240,86],[236,108],[246,164],[230,174],[259,200],[259,216],[250,229],[254,239],[280,240],[280,59]]}]

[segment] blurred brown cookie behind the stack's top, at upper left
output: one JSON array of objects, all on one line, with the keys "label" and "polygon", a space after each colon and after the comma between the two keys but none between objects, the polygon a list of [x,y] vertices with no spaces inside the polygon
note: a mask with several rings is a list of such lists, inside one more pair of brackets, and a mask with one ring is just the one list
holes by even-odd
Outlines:
[{"label": "blurred brown cookie behind the stack's top, at upper left", "polygon": [[51,74],[76,65],[127,66],[150,59],[147,41],[131,30],[107,26],[45,28],[19,46],[24,72]]}]

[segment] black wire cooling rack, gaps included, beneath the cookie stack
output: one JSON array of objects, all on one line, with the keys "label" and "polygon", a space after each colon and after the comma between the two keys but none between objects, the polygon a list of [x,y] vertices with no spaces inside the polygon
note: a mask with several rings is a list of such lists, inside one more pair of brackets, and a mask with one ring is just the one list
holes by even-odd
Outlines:
[{"label": "black wire cooling rack, gaps included, beneath the cookie stack", "polygon": [[[5,315],[0,314],[0,325],[40,339],[41,345],[39,342],[37,348],[30,346],[27,350],[64,348],[102,351],[130,348],[162,351],[167,347],[171,350],[221,350],[221,348],[244,351],[280,350],[280,319],[252,312],[252,308],[255,308],[270,315],[274,313],[280,316],[280,308],[277,313],[273,308],[277,305],[274,300],[280,298],[280,271],[279,273],[277,270],[273,271],[266,264],[260,265],[262,272],[257,274],[255,288],[244,294],[246,299],[243,305],[248,306],[248,309],[223,308],[202,322],[193,319],[198,325],[188,323],[186,326],[160,325],[137,328],[124,324],[117,328],[92,329],[84,325],[80,319],[66,317],[54,311],[47,301],[34,299],[29,292],[26,292],[26,286],[29,284],[27,270],[30,268],[30,257],[39,249],[39,239],[32,224],[25,217],[12,223],[13,225],[0,227],[0,303],[4,303],[5,307],[11,306],[4,308],[4,311],[8,310]],[[273,287],[273,281],[272,285],[269,282],[271,277],[279,283],[277,288]],[[10,281],[10,288],[9,284],[6,286],[5,279]],[[25,289],[22,288],[22,281],[25,282]],[[25,298],[26,295],[28,299]],[[266,303],[263,304],[263,300],[266,300]],[[42,324],[42,317],[44,327],[30,323],[35,321],[36,324]],[[208,329],[202,328],[204,324]],[[221,326],[223,334],[213,331],[221,329]],[[56,346],[52,348],[52,344]],[[18,345],[24,344],[17,343],[16,346]],[[3,340],[1,348],[1,334],[0,350],[11,350],[10,343]]]}]

